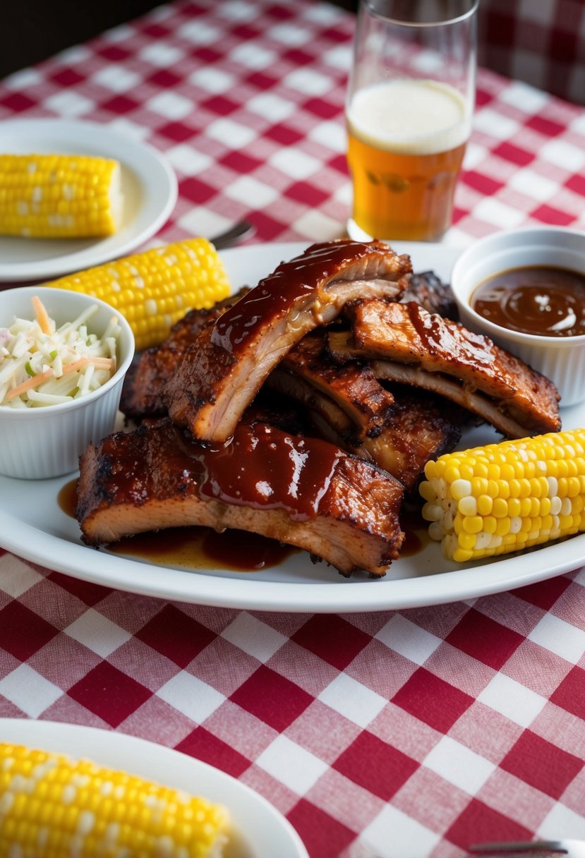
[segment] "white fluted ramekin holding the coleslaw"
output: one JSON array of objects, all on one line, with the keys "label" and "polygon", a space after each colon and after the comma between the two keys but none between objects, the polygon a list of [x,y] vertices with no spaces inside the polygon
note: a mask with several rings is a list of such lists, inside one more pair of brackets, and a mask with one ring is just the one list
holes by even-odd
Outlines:
[{"label": "white fluted ramekin holding the coleslaw", "polygon": [[134,335],[124,316],[104,301],[89,295],[44,286],[0,291],[0,327],[13,317],[33,319],[31,299],[38,295],[57,328],[72,322],[88,306],[98,311],[88,321],[90,333],[102,335],[112,316],[118,318],[118,369],[97,390],[43,408],[0,406],[0,474],[25,480],[44,480],[69,474],[78,467],[90,441],[96,443],[113,431],[124,376],[134,357]]}]

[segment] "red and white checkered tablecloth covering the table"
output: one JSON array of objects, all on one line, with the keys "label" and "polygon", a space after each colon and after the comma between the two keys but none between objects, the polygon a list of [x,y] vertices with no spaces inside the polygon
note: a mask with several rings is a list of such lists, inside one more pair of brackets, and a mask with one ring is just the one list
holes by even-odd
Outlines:
[{"label": "red and white checkered tablecloth covering the table", "polygon": [[[171,3],[1,82],[0,120],[87,119],[164,151],[179,200],[157,239],[240,216],[253,241],[330,239],[349,212],[352,32],[310,0]],[[481,70],[445,241],[584,228],[584,165],[582,107]],[[584,654],[578,570],[443,607],[313,615],[124,594],[0,550],[0,716],[206,760],[273,802],[311,858],[585,838]]]}]

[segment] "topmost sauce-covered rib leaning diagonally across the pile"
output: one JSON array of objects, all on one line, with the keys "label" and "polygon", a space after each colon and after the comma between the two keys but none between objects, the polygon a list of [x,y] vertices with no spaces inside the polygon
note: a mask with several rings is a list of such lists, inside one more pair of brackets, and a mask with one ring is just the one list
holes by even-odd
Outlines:
[{"label": "topmost sauce-covered rib leaning diagonally across the pile", "polygon": [[286,353],[339,316],[347,301],[399,298],[410,259],[383,242],[350,239],[311,245],[213,325],[202,329],[162,399],[174,423],[196,438],[225,441]]}]

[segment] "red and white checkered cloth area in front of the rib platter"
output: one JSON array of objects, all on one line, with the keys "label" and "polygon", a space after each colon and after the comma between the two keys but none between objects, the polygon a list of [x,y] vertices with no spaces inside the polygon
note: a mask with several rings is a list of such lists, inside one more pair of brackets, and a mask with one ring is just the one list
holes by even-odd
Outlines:
[{"label": "red and white checkered cloth area in front of the rib platter", "polygon": [[135,734],[220,767],[311,856],[585,837],[585,575],[467,603],[249,613],[0,557],[0,716]]}]

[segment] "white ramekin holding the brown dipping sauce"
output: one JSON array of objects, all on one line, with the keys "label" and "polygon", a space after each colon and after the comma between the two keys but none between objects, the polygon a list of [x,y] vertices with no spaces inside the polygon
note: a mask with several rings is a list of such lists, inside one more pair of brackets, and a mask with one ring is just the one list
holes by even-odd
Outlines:
[{"label": "white ramekin holding the brown dipping sauce", "polygon": [[461,323],[490,337],[557,385],[562,408],[585,401],[585,334],[523,334],[489,322],[473,310],[474,290],[509,269],[548,265],[585,275],[585,233],[563,227],[528,227],[494,233],[463,251],[451,274]]}]

